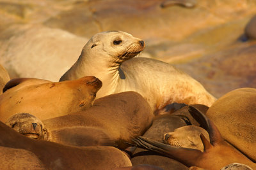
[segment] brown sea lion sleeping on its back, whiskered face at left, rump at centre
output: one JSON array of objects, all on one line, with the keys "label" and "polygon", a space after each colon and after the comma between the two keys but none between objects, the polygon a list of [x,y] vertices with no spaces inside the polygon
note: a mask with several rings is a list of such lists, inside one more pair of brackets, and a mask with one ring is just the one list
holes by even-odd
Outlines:
[{"label": "brown sea lion sleeping on its back, whiskered face at left, rump at centre", "polygon": [[153,117],[149,104],[140,94],[122,92],[97,99],[82,112],[42,122],[28,113],[18,114],[6,124],[26,136],[65,145],[125,148],[124,141],[131,142],[132,138],[141,136],[152,124]]}]

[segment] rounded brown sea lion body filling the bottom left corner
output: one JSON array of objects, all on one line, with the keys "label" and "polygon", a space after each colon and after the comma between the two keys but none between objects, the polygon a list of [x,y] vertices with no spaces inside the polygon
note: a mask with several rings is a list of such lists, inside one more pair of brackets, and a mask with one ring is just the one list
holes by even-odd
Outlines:
[{"label": "rounded brown sea lion body filling the bottom left corner", "polygon": [[28,150],[0,146],[1,170],[46,170],[36,155]]}]

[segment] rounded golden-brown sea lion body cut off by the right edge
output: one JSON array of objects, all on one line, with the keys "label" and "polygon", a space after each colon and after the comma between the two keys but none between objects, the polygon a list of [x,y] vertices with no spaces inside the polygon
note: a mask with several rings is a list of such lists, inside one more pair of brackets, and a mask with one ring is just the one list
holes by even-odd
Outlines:
[{"label": "rounded golden-brown sea lion body cut off by the right edge", "polygon": [[232,90],[206,113],[223,138],[256,162],[256,89]]}]

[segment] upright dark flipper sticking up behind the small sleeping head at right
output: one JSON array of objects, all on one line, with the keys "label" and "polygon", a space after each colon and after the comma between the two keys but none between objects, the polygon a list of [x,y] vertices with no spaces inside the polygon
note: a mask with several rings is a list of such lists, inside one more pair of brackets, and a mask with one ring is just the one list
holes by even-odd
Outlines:
[{"label": "upright dark flipper sticking up behind the small sleeping head at right", "polygon": [[214,125],[214,123],[211,120],[209,120],[209,118],[207,118],[203,113],[201,113],[193,106],[189,106],[188,111],[191,114],[191,116],[195,118],[195,120],[209,133],[210,142],[212,145],[220,143],[221,141],[224,140],[221,137],[220,131],[218,130],[216,125]]}]

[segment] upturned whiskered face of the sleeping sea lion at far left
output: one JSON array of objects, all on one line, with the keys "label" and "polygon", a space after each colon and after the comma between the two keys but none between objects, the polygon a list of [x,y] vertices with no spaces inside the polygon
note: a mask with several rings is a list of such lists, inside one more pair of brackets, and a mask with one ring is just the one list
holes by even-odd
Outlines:
[{"label": "upturned whiskered face of the sleeping sea lion at far left", "polygon": [[29,113],[17,113],[13,115],[7,120],[6,125],[28,138],[47,138],[47,129],[42,121]]}]

